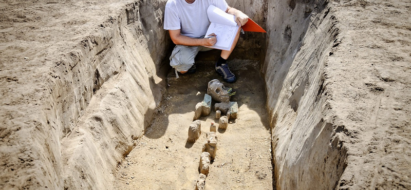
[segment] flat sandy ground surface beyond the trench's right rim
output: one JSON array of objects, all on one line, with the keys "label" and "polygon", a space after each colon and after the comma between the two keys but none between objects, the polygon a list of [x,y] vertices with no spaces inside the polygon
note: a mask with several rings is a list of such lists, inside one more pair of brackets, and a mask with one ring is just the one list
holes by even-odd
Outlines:
[{"label": "flat sandy ground surface beyond the trench's right rim", "polygon": [[343,40],[329,57],[326,72],[334,81],[327,88],[335,102],[344,103],[338,117],[346,127],[350,154],[339,186],[411,189],[410,3],[334,5]]}]

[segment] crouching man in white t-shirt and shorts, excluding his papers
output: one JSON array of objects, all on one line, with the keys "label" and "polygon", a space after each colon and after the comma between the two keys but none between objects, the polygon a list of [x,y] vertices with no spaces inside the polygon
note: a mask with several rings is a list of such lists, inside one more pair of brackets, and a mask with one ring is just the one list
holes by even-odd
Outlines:
[{"label": "crouching man in white t-shirt and shorts, excluding his papers", "polygon": [[[203,38],[210,25],[207,9],[214,5],[221,10],[235,16],[238,26],[247,23],[248,16],[241,11],[228,6],[225,0],[169,0],[165,5],[164,29],[169,30],[171,40],[176,44],[171,56],[170,65],[176,73],[194,73],[196,66],[194,58],[199,51],[208,51],[217,42],[215,34]],[[240,27],[241,28],[241,27]],[[239,38],[240,28],[234,39],[231,50],[222,50],[220,58],[215,64],[215,70],[222,79],[228,83],[234,83],[237,79],[226,64]]]}]

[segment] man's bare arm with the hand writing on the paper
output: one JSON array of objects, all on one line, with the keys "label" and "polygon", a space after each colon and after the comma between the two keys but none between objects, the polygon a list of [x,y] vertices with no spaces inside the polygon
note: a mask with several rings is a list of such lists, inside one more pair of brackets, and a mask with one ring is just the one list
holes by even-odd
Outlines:
[{"label": "man's bare arm with the hand writing on the paper", "polygon": [[[217,39],[216,37],[210,37],[207,39],[196,39],[192,37],[188,37],[185,35],[181,35],[180,30],[169,30],[171,40],[176,45],[184,45],[184,46],[213,46]],[[214,33],[213,33],[214,34]],[[215,34],[214,34],[215,36]]]}]

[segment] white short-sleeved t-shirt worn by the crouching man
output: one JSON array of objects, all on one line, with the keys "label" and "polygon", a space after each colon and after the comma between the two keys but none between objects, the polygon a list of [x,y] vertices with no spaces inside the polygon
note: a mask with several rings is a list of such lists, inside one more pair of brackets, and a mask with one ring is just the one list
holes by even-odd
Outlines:
[{"label": "white short-sleeved t-shirt worn by the crouching man", "polygon": [[185,0],[169,0],[165,5],[164,29],[178,30],[180,34],[189,37],[206,35],[210,25],[207,8],[214,5],[226,11],[226,0],[196,0],[189,4]]}]

